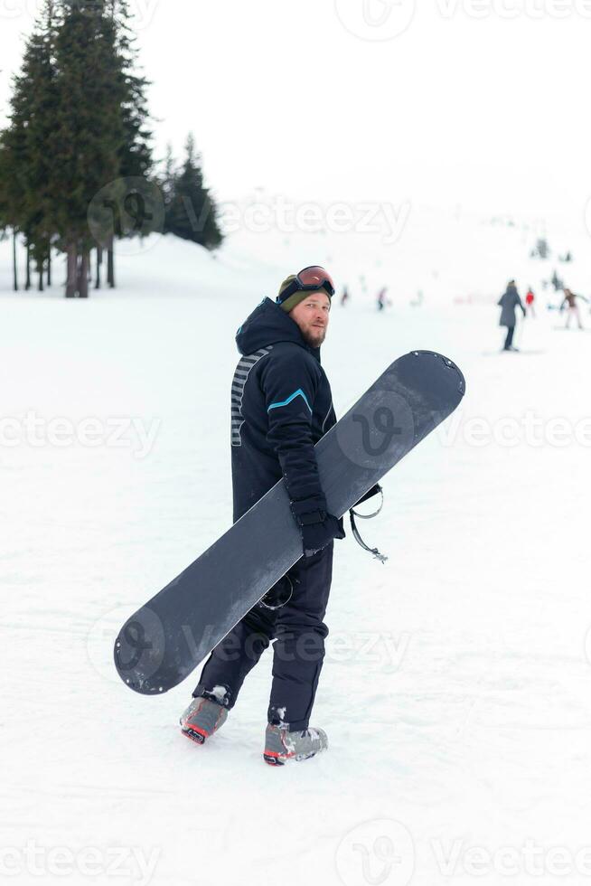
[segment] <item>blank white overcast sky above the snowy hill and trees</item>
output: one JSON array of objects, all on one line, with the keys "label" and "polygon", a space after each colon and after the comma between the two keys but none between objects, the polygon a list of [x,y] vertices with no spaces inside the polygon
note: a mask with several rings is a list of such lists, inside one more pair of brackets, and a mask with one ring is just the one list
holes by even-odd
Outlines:
[{"label": "blank white overcast sky above the snowy hill and trees", "polygon": [[[0,0],[0,108],[41,0]],[[584,217],[591,0],[130,0],[157,144],[222,199]]]}]

